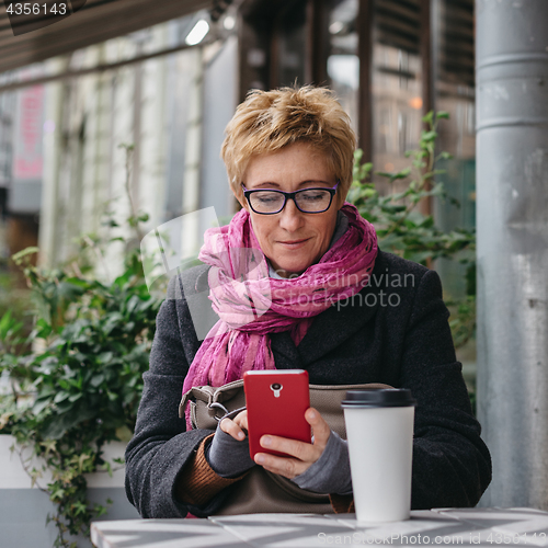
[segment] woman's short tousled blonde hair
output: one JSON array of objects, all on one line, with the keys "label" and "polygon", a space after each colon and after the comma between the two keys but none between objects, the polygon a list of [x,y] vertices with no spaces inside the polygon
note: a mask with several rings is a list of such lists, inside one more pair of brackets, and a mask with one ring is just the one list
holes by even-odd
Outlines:
[{"label": "woman's short tousled blonde hair", "polygon": [[327,152],[328,165],[340,180],[342,205],[352,184],[356,136],[349,115],[327,88],[251,90],[225,129],[221,158],[229,184],[242,201],[240,186],[252,157],[307,142]]}]

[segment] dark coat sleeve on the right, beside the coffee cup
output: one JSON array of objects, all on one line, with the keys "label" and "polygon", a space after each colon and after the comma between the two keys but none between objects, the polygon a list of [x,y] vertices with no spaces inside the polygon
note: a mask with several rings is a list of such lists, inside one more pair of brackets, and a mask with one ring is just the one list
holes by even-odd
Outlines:
[{"label": "dark coat sleeve on the right, beside the coffee cup", "polygon": [[491,481],[491,457],[471,411],[448,317],[439,276],[427,271],[414,296],[401,368],[401,386],[418,400],[413,510],[475,506]]}]

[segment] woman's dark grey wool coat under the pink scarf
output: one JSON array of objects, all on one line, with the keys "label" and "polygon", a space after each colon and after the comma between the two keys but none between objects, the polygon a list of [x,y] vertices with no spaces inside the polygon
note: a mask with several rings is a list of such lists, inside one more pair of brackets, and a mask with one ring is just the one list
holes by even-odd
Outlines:
[{"label": "woman's dark grey wool coat under the pink scarf", "polygon": [[[174,495],[179,472],[210,434],[185,432],[178,414],[183,380],[201,345],[196,330],[207,331],[217,321],[207,298],[207,270],[201,265],[173,277],[158,313],[135,435],[126,449],[126,492],[142,517],[207,516],[230,496],[231,487],[195,507]],[[379,250],[369,285],[316,316],[298,346],[287,331],[271,334],[276,368],[307,369],[311,384],[411,389],[418,401],[414,510],[473,506],[491,481],[491,458],[470,409],[448,316],[434,271]]]}]

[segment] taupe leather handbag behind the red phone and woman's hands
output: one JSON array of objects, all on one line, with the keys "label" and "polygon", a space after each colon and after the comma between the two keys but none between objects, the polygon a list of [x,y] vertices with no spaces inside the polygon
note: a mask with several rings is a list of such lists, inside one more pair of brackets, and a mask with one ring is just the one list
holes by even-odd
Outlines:
[{"label": "taupe leather handbag behind the red phone and woman's hands", "polygon": [[[377,383],[364,385],[310,385],[310,407],[317,409],[330,429],[346,439],[341,402],[347,390],[392,388]],[[220,387],[199,386],[183,395],[179,404],[179,416],[184,418],[186,406],[191,406],[193,429],[214,431],[217,423],[229,413],[246,408],[243,380],[235,380]],[[238,482],[231,486],[230,495],[216,512],[218,515],[255,513],[313,513],[332,514],[334,510],[328,494],[299,488],[292,480],[254,466]]]}]

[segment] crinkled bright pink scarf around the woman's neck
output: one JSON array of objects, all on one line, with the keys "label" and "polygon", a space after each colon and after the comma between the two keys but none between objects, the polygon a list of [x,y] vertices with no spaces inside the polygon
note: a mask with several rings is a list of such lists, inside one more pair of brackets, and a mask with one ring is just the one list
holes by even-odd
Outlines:
[{"label": "crinkled bright pink scarf around the woman's neck", "polygon": [[[358,293],[377,256],[377,235],[356,207],[342,212],[349,228],[321,258],[293,279],[269,277],[249,213],[241,209],[228,226],[210,228],[198,259],[208,273],[209,299],[219,321],[207,333],[184,379],[193,386],[222,386],[250,369],[275,369],[270,333],[289,331],[300,343],[315,316]],[[187,427],[190,416],[186,414]]]}]

